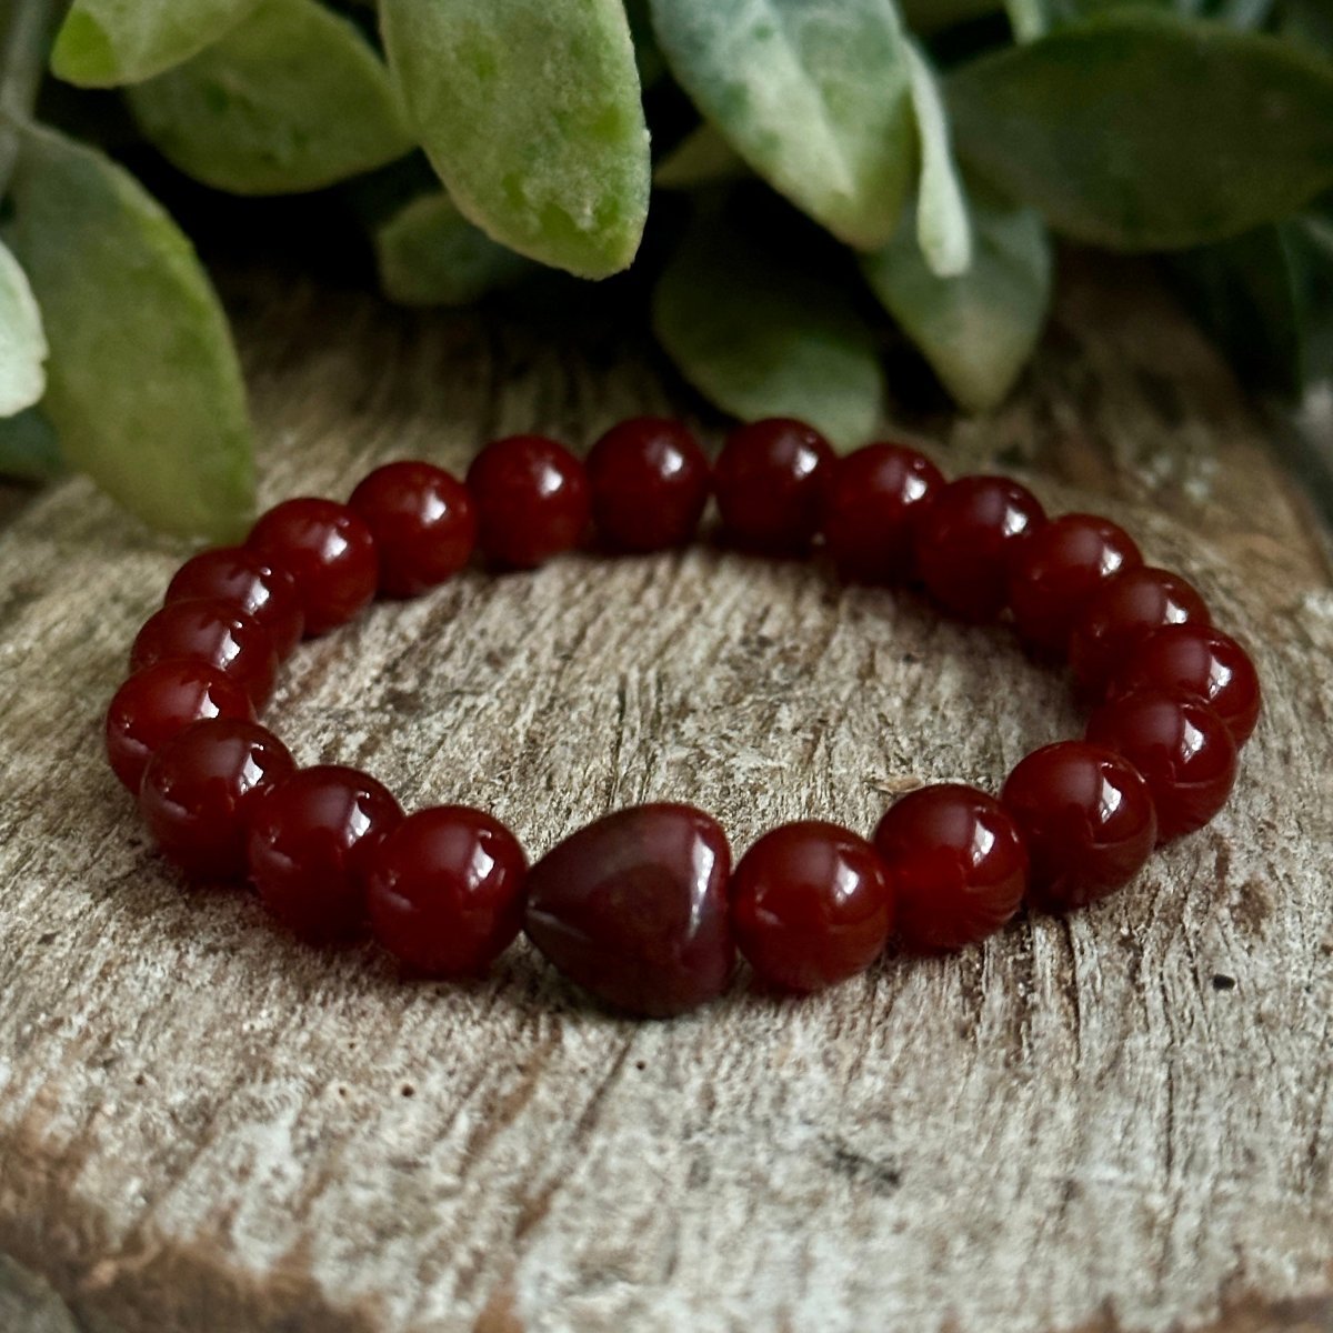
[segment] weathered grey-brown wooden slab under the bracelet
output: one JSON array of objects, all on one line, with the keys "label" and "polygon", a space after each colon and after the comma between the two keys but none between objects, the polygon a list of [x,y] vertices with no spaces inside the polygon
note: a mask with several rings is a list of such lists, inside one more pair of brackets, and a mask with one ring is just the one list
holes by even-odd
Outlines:
[{"label": "weathered grey-brown wooden slab under the bracelet", "polygon": [[[664,399],[569,349],[241,279],[265,499]],[[1333,1328],[1333,587],[1264,432],[1134,269],[1076,273],[993,419],[917,423],[1097,505],[1257,651],[1230,806],[1126,892],[804,1002],[666,1024],[529,950],[465,986],[183,894],[99,752],[180,549],[81,483],[0,533],[0,1326],[7,1333]],[[305,761],[467,800],[533,854],[649,797],[744,849],[994,786],[1073,733],[1002,631],[697,548],[469,573],[301,651]]]}]

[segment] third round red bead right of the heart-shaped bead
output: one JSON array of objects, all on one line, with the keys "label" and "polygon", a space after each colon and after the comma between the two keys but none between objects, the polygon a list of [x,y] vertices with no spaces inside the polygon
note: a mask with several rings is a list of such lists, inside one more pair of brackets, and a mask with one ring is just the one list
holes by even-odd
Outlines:
[{"label": "third round red bead right of the heart-shaped bead", "polygon": [[1028,846],[1029,897],[1052,912],[1128,884],[1157,840],[1148,784],[1101,745],[1058,741],[1033,750],[1009,774],[1000,801]]}]

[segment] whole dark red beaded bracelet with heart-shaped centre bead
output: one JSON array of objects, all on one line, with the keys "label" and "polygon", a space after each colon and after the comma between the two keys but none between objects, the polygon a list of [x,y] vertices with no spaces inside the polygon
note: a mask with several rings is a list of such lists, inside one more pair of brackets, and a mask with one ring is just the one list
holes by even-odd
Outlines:
[{"label": "whole dark red beaded bracelet with heart-shaped centre bead", "polygon": [[[924,589],[966,621],[1012,620],[1034,656],[1072,666],[1094,704],[1085,738],[1029,754],[998,800],[958,784],[914,790],[870,841],[786,824],[733,872],[714,820],[656,804],[597,820],[529,869],[489,814],[404,816],[365,773],[299,769],[255,721],[303,635],[344,624],[376,592],[424,593],[475,548],[531,569],[589,524],[616,551],[677,547],[709,496],[737,545],[796,555],[822,541],[846,580]],[[809,992],[869,966],[893,934],[908,950],[952,950],[1024,901],[1092,902],[1217,813],[1260,710],[1244,649],[1116,524],[1048,520],[1004,477],[945,483],[900,444],[838,459],[790,420],[741,427],[713,468],[681,424],[643,417],[603,436],[587,465],[513,436],[481,451],[465,485],[392,463],[345,505],[288,500],[244,545],[181,567],[131,669],[107,714],[108,756],[189,878],[248,877],[299,936],[369,926],[432,977],[484,970],[523,929],[585,989],[645,1016],[718,996],[737,948],[764,981]]]}]

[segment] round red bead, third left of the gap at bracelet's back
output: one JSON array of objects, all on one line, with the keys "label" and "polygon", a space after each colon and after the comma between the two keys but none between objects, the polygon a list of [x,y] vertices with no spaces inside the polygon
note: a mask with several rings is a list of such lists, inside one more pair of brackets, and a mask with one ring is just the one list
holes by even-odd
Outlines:
[{"label": "round red bead, third left of the gap at bracelet's back", "polygon": [[352,492],[375,537],[380,592],[415,597],[453,577],[472,555],[477,519],[467,487],[431,463],[387,463]]}]

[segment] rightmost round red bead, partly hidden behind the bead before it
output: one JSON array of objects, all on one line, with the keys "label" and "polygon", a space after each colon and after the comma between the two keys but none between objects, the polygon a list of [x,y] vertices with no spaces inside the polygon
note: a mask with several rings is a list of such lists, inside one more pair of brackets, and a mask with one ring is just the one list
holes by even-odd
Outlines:
[{"label": "rightmost round red bead, partly hidden behind the bead before it", "polygon": [[1176,690],[1202,700],[1226,724],[1237,748],[1258,721],[1262,697],[1258,673],[1234,639],[1209,625],[1154,629],[1116,666],[1110,698],[1144,689]]}]

